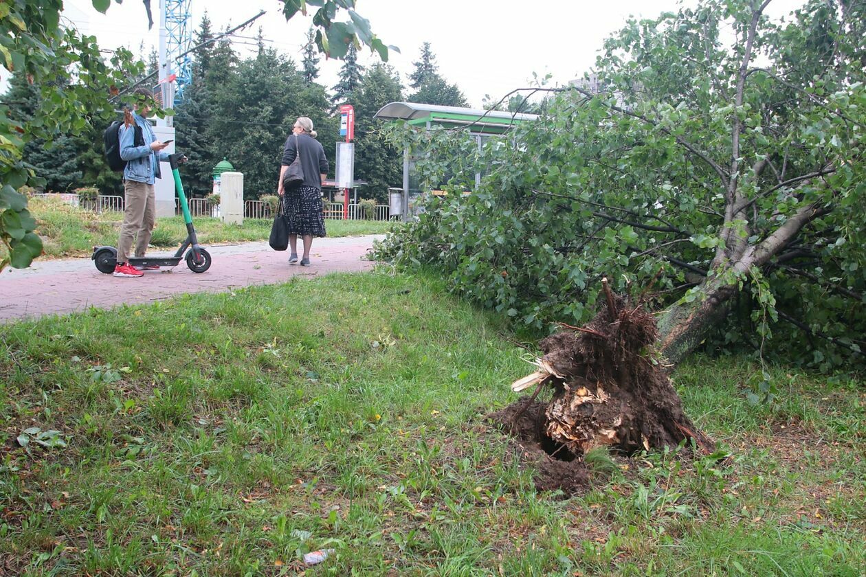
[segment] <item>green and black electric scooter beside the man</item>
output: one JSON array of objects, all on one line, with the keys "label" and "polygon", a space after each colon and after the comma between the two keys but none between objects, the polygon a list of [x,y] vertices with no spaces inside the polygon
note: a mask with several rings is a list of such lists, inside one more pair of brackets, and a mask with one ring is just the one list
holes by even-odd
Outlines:
[{"label": "green and black electric scooter beside the man", "polygon": [[[186,266],[189,266],[192,272],[204,272],[210,268],[210,253],[198,244],[196,229],[192,226],[190,205],[186,202],[184,185],[180,182],[178,166],[182,159],[184,159],[184,155],[179,152],[168,157],[168,162],[171,165],[171,174],[174,175],[174,188],[178,192],[180,207],[184,211],[184,222],[186,223],[187,232],[186,240],[178,248],[178,252],[174,253],[174,256],[130,257],[129,264],[132,266],[178,266],[180,260],[184,258],[184,251],[186,251]],[[187,248],[190,250],[187,251]],[[111,274],[114,272],[114,266],[117,265],[117,248],[94,247],[94,253],[90,258],[94,260],[96,269],[99,272]]]}]

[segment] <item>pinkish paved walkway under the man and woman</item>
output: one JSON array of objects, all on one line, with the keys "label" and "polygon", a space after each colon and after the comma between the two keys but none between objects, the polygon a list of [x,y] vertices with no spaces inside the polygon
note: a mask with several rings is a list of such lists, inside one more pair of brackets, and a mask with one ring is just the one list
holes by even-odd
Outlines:
[{"label": "pinkish paved walkway under the man and woman", "polygon": [[[288,264],[288,251],[277,253],[267,242],[209,247],[213,263],[197,274],[184,260],[173,269],[145,271],[139,279],[118,279],[96,270],[89,258],[35,260],[29,268],[0,273],[0,323],[17,318],[67,314],[91,306],[140,305],[184,292],[223,292],[249,285],[280,283],[294,276],[316,277],[328,272],[359,272],[372,268],[362,260],[372,242],[384,235],[313,240],[313,266]],[[300,245],[301,239],[298,239]],[[148,256],[169,253],[148,253]]]}]

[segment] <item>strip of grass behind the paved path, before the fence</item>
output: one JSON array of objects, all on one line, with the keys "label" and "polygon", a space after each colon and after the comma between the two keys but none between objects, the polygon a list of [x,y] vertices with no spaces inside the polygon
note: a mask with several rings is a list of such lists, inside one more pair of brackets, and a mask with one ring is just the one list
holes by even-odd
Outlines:
[{"label": "strip of grass behind the paved path, before the fence", "polygon": [[[90,256],[95,246],[116,246],[122,213],[108,212],[96,215],[87,210],[69,206],[57,199],[31,198],[30,212],[38,223],[36,233],[42,236],[45,254],[49,257]],[[242,225],[223,224],[216,218],[193,219],[198,240],[204,245],[248,240],[268,240],[272,219],[244,219]],[[386,233],[391,222],[332,221],[325,222],[328,236]],[[178,247],[186,238],[186,225],[182,216],[161,218],[153,231],[154,247]],[[0,258],[5,247],[0,247]]]}]

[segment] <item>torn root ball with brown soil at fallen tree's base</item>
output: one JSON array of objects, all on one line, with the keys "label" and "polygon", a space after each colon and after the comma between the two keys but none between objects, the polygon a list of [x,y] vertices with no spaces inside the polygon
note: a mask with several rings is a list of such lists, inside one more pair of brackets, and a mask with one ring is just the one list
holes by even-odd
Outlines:
[{"label": "torn root ball with brown soil at fallen tree's base", "polygon": [[[606,306],[598,315],[543,339],[540,370],[514,382],[515,390],[536,385],[532,397],[489,417],[539,463],[540,490],[585,488],[591,471],[584,456],[598,447],[631,455],[691,439],[700,452],[714,451],[656,356],[656,319],[603,285]],[[552,392],[550,401],[535,401],[542,391]]]}]

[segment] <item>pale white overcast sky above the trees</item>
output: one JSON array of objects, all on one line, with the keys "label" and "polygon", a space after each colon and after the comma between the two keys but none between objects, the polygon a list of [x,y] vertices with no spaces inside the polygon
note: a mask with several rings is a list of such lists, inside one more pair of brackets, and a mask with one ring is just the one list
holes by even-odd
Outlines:
[{"label": "pale white overcast sky above the trees", "polygon": [[[684,0],[694,5],[695,0]],[[786,14],[803,0],[774,0],[768,12]],[[139,52],[145,43],[145,58],[151,47],[158,48],[159,0],[152,0],[153,29],[148,31],[145,8],[141,2],[112,3],[106,15],[93,9],[89,0],[66,0],[65,15],[87,34],[96,35],[100,48],[126,46]],[[357,10],[368,18],[373,32],[385,42],[400,48],[391,53],[390,64],[403,75],[418,60],[421,44],[430,42],[440,74],[461,88],[469,105],[481,107],[485,94],[500,99],[514,88],[530,86],[533,73],[552,74],[550,85],[565,85],[588,71],[604,38],[622,27],[630,15],[655,17],[665,10],[676,10],[677,0],[546,0],[515,2],[508,0],[358,0]],[[258,13],[268,13],[239,35],[249,40],[236,41],[236,49],[252,51],[252,38],[259,26],[268,46],[288,54],[300,64],[301,47],[311,16],[295,16],[286,22],[277,0],[191,0],[191,28],[197,30],[207,10],[213,29],[222,31]],[[347,16],[344,16],[347,17]],[[359,61],[377,61],[369,49]],[[320,61],[319,81],[327,87],[336,83],[340,61]],[[0,68],[5,80],[8,75]],[[3,82],[0,81],[0,85]]]}]

